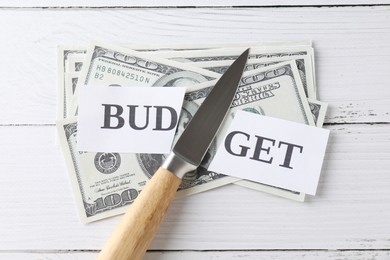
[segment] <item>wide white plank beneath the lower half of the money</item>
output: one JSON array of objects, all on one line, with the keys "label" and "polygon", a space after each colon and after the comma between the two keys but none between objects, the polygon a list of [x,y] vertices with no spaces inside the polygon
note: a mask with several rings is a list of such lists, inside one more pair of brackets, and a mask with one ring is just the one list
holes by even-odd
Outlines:
[{"label": "wide white plank beneath the lower half of the money", "polygon": [[[151,249],[389,250],[390,125],[327,128],[316,197],[229,185],[176,199]],[[3,126],[0,136],[0,251],[99,250],[119,217],[80,223],[54,127]]]}]

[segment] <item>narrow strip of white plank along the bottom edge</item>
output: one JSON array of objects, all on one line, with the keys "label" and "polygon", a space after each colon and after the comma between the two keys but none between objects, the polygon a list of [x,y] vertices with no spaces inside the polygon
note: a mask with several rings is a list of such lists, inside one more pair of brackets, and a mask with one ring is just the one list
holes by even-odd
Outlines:
[{"label": "narrow strip of white plank along the bottom edge", "polygon": [[[0,253],[1,259],[71,259],[71,260],[95,260],[96,252],[15,252]],[[227,251],[227,252],[148,252],[144,260],[340,260],[340,259],[360,259],[360,260],[388,260],[390,252],[386,250],[375,251]]]}]

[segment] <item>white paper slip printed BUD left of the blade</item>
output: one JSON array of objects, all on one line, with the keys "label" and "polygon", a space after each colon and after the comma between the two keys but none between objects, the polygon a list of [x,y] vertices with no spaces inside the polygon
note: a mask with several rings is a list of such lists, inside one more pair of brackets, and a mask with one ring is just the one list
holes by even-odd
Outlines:
[{"label": "white paper slip printed BUD left of the blade", "polygon": [[77,149],[169,153],[185,88],[80,88]]}]

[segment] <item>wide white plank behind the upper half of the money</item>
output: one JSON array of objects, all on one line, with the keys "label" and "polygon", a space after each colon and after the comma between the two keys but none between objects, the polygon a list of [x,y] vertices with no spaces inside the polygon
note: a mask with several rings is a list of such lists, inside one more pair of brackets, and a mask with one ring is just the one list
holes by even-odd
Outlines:
[{"label": "wide white plank behind the upper half of the money", "polygon": [[[80,18],[82,17],[82,20]],[[390,10],[205,8],[0,9],[3,52],[0,124],[52,124],[56,47],[111,43],[223,43],[313,40],[319,98],[328,123],[390,122]]]}]

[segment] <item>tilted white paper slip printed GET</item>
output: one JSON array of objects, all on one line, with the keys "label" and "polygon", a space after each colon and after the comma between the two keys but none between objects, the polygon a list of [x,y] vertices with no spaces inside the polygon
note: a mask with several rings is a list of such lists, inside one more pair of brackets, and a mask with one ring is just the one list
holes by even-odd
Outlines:
[{"label": "tilted white paper slip printed GET", "polygon": [[329,130],[237,111],[210,171],[315,195]]}]

